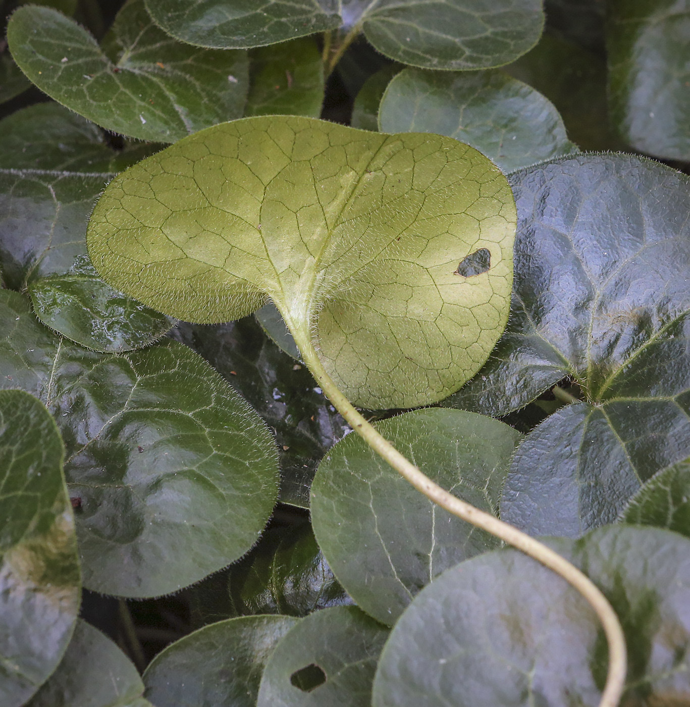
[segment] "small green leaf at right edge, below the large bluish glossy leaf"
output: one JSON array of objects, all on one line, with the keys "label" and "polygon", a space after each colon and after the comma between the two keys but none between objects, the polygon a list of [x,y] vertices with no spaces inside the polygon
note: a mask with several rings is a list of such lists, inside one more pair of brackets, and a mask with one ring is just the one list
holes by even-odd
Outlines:
[{"label": "small green leaf at right edge, below the large bluish glossy leaf", "polygon": [[631,498],[621,520],[690,537],[690,460],[662,469]]}]

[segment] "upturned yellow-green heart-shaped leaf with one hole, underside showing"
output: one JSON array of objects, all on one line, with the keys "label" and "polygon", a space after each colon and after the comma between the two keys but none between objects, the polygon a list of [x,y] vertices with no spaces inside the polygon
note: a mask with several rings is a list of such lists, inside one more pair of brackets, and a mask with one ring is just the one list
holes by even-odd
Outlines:
[{"label": "upturned yellow-green heart-shaped leaf with one hole, underside showing", "polygon": [[412,407],[457,390],[498,339],[513,209],[498,169],[450,138],[255,117],[116,177],[87,242],[109,284],[181,319],[269,296],[354,403]]}]

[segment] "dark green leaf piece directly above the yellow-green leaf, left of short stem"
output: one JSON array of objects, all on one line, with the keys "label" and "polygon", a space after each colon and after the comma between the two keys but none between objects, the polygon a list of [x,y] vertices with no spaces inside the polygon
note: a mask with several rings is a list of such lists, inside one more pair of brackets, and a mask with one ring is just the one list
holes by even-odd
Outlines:
[{"label": "dark green leaf piece directly above the yellow-green leaf, left of short stem", "polygon": [[250,52],[245,115],[321,115],[324,70],[311,37]]}]

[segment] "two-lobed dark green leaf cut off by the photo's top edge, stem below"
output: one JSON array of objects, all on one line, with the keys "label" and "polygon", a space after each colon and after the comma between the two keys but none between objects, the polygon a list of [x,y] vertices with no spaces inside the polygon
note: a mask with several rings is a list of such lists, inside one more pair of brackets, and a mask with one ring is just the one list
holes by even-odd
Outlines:
[{"label": "two-lobed dark green leaf cut off by the photo's top edge, stem below", "polygon": [[363,31],[382,54],[429,69],[500,66],[539,39],[539,0],[146,0],[160,27],[201,47],[259,47],[341,28]]}]

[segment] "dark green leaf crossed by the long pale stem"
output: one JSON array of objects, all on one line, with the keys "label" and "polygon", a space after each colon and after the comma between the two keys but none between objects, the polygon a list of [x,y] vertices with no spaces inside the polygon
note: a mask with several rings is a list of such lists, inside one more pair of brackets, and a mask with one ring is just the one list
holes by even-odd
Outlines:
[{"label": "dark green leaf crossed by the long pale stem", "polygon": [[[520,433],[489,417],[426,409],[378,431],[431,479],[496,513]],[[339,442],[312,484],[312,523],[335,575],[358,606],[393,624],[414,596],[455,563],[498,540],[422,496],[356,435]]]}]

